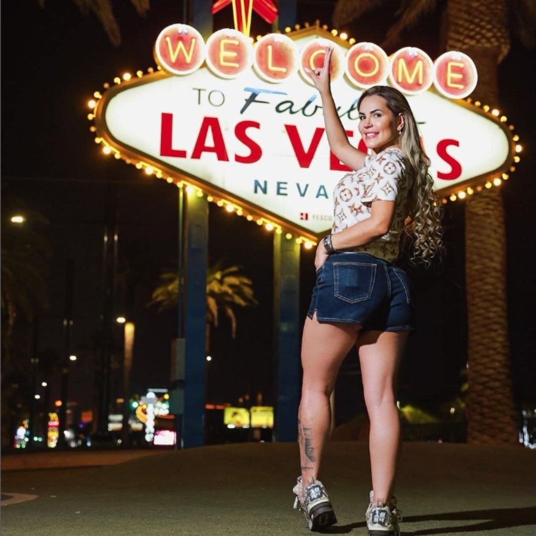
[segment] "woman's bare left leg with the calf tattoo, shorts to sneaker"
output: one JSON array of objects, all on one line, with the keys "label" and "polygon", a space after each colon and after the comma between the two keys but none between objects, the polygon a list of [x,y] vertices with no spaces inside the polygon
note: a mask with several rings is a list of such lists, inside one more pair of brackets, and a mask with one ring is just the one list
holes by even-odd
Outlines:
[{"label": "woman's bare left leg with the calf tattoo, shorts to sneaker", "polygon": [[301,361],[302,396],[298,413],[298,442],[303,485],[316,480],[331,426],[330,396],[346,354],[360,326],[319,323],[316,314],[303,327]]}]

